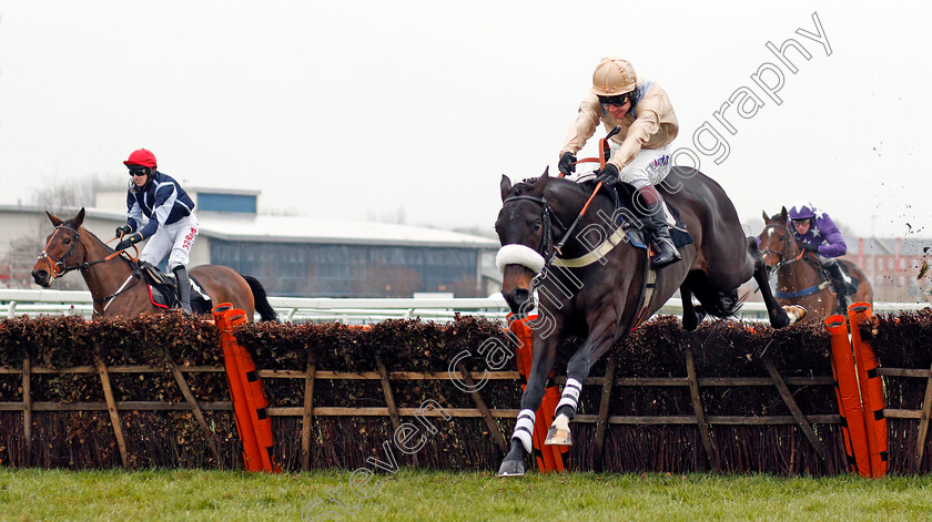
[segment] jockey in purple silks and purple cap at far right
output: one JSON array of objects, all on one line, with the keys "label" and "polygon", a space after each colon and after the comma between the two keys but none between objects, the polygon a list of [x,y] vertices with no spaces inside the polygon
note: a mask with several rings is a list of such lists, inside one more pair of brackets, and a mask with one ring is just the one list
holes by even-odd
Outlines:
[{"label": "jockey in purple silks and purple cap at far right", "polygon": [[835,259],[848,253],[848,245],[838,226],[828,214],[806,201],[793,203],[789,217],[792,224],[790,229],[800,248],[816,255],[831,277],[839,300],[848,308],[851,304],[848,295],[851,294],[852,280],[842,269],[841,263]]}]

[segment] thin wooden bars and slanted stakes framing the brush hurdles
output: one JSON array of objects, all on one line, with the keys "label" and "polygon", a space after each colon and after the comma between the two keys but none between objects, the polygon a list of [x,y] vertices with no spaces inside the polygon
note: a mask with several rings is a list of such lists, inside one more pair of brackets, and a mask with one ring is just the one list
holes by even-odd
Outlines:
[{"label": "thin wooden bars and slanted stakes framing the brush hurdles", "polygon": [[[709,470],[718,470],[718,457],[715,451],[709,426],[773,426],[773,424],[798,424],[816,452],[824,458],[824,449],[813,430],[813,424],[838,424],[838,414],[806,414],[799,408],[791,387],[810,386],[833,386],[830,376],[813,377],[782,377],[772,362],[764,359],[763,364],[769,377],[698,377],[695,364],[692,362],[692,350],[687,347],[685,350],[687,375],[681,377],[614,377],[614,366],[608,366],[608,377],[589,377],[584,386],[601,387],[598,413],[578,414],[574,422],[596,424],[596,450],[597,456],[601,454],[605,431],[610,424],[638,424],[638,426],[670,426],[670,424],[695,424],[699,430],[702,443],[705,460]],[[201,429],[204,430],[209,442],[210,451],[217,462],[221,462],[220,449],[215,434],[204,418],[205,411],[231,411],[230,401],[201,402],[191,392],[185,379],[186,373],[196,372],[223,372],[221,366],[183,366],[175,362],[168,362],[165,367],[152,365],[138,366],[107,366],[100,358],[94,366],[79,366],[72,368],[44,368],[33,366],[27,357],[21,368],[0,367],[0,375],[20,375],[22,378],[22,400],[0,402],[0,412],[22,412],[22,433],[26,441],[32,439],[32,419],[34,412],[40,411],[108,411],[113,429],[113,436],[120,451],[123,467],[130,467],[130,456],[126,451],[125,438],[122,431],[120,412],[125,411],[190,411],[194,414]],[[105,398],[104,402],[47,402],[34,401],[31,391],[31,380],[37,375],[67,375],[87,373],[98,375]],[[114,373],[161,373],[171,375],[179,386],[184,402],[171,403],[166,401],[116,401],[110,376]],[[912,463],[914,472],[920,471],[920,463],[924,454],[926,438],[929,433],[930,418],[932,417],[932,368],[909,369],[909,368],[880,368],[878,373],[883,377],[916,378],[925,379],[925,397],[921,409],[885,409],[884,414],[890,419],[918,419],[919,439],[915,448],[915,460]],[[384,365],[378,365],[377,371],[361,373],[346,373],[327,371],[317,368],[313,360],[308,360],[303,370],[260,370],[263,379],[300,379],[304,381],[304,401],[301,407],[274,407],[270,406],[269,414],[272,417],[300,417],[302,418],[301,448],[302,448],[302,471],[311,469],[310,456],[312,449],[312,421],[315,417],[388,417],[394,426],[401,422],[403,417],[412,417],[415,413],[425,417],[440,417],[438,411],[419,411],[417,408],[403,408],[395,403],[393,382],[416,381],[416,380],[446,380],[450,375],[443,372],[414,372],[414,371],[388,371]],[[473,377],[462,365],[455,373],[463,382],[473,382]],[[517,371],[489,371],[486,376],[489,380],[517,380]],[[378,381],[384,395],[384,407],[345,408],[315,405],[314,385],[318,380],[369,380]],[[564,378],[556,378],[557,383],[565,382]],[[625,387],[686,387],[692,401],[693,414],[691,416],[662,416],[662,417],[630,417],[609,416],[608,403],[615,388]],[[700,390],[706,387],[776,387],[783,401],[789,408],[789,416],[763,416],[763,417],[737,417],[737,416],[709,416],[702,407]],[[495,444],[504,451],[507,449],[507,441],[503,434],[497,419],[514,419],[517,409],[493,409],[483,399],[482,390],[469,393],[475,408],[448,408],[445,413],[457,418],[482,418],[488,427]],[[27,452],[28,453],[28,452]]]}]

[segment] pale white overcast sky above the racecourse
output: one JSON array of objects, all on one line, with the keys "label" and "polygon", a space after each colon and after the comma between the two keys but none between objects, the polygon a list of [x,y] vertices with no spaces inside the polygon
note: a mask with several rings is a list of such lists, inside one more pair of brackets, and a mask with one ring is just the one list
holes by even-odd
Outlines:
[{"label": "pale white overcast sky above the racecourse", "polygon": [[[261,190],[260,212],[403,208],[409,224],[490,228],[499,176],[555,166],[595,65],[621,55],[667,90],[673,146],[696,153],[746,223],[809,198],[858,235],[932,237],[931,10],[0,1],[0,203],[91,175],[124,183],[121,162],[146,147],[188,185]],[[819,33],[813,13],[822,42],[804,35]],[[787,39],[811,55],[787,51],[796,73],[767,48]],[[772,98],[759,70],[771,85],[780,71]],[[752,116],[748,91],[763,103]],[[715,113],[736,92],[748,117],[722,111],[732,134]],[[693,143],[703,124],[700,145],[713,149],[715,130],[727,157]]]}]

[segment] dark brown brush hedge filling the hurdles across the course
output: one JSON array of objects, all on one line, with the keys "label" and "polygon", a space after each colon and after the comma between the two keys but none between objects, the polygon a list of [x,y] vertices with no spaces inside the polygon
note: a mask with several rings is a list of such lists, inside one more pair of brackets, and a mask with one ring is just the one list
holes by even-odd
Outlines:
[{"label": "dark brown brush hedge filling the hurdles across the course", "polygon": [[[928,472],[932,310],[879,319],[890,471]],[[495,344],[515,347],[500,324],[260,323],[234,334],[260,368],[284,469],[393,457],[497,469],[521,392],[516,359],[489,358]],[[242,469],[217,338],[213,324],[174,314],[0,321],[0,465]],[[576,342],[561,346],[551,386]],[[843,473],[829,349],[822,326],[716,321],[687,332],[659,317],[594,367],[568,467]]]}]

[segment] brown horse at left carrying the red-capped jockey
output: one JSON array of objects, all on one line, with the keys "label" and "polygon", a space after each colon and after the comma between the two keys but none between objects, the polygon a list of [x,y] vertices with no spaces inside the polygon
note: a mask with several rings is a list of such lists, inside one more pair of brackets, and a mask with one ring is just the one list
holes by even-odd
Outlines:
[{"label": "brown horse at left carrying the red-capped jockey", "polygon": [[[165,308],[152,304],[139,265],[115,253],[81,226],[84,223],[83,208],[64,222],[48,212],[45,214],[55,229],[48,236],[45,248],[32,267],[37,285],[48,288],[57,277],[81,270],[93,297],[95,315],[133,316],[144,311],[165,311]],[[276,319],[265,289],[253,277],[241,276],[232,268],[216,265],[192,268],[191,277],[215,305],[231,303],[245,311],[249,320],[256,310],[262,320]]]}]

